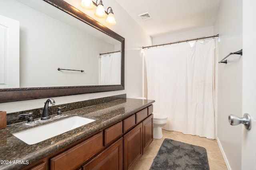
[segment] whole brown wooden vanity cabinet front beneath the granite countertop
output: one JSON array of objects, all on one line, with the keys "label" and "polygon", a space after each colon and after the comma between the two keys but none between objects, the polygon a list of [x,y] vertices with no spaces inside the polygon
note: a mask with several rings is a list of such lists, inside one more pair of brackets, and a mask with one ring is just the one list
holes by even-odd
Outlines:
[{"label": "whole brown wooden vanity cabinet front beneath the granite countertop", "polygon": [[153,141],[152,112],[148,106],[24,169],[130,170]]}]

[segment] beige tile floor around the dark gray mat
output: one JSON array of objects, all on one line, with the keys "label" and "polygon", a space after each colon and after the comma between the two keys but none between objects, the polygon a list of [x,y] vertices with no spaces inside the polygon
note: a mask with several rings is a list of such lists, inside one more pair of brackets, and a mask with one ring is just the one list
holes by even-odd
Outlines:
[{"label": "beige tile floor around the dark gray mat", "polygon": [[134,170],[150,169],[150,166],[165,138],[204,147],[207,151],[210,170],[227,170],[222,153],[220,152],[220,148],[216,140],[210,140],[195,135],[184,135],[180,132],[166,131],[164,129],[163,136],[164,137],[162,139],[154,139],[148,150],[146,150],[145,154],[135,165]]}]

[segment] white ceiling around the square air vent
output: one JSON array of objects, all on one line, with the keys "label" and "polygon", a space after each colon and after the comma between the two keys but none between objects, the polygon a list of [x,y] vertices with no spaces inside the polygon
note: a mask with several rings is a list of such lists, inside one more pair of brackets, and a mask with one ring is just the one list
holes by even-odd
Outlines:
[{"label": "white ceiling around the square air vent", "polygon": [[[214,25],[221,0],[116,0],[151,36],[157,37]],[[151,18],[141,20],[139,14]]]}]

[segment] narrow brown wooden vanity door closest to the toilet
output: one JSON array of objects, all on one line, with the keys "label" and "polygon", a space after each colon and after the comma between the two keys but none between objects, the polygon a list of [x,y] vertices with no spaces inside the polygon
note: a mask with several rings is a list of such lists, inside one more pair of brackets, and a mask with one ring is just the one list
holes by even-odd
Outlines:
[{"label": "narrow brown wooden vanity door closest to the toilet", "polygon": [[144,150],[146,150],[153,141],[153,114],[151,114],[146,120],[144,120],[142,122],[142,125],[143,125],[143,154],[144,154]]}]

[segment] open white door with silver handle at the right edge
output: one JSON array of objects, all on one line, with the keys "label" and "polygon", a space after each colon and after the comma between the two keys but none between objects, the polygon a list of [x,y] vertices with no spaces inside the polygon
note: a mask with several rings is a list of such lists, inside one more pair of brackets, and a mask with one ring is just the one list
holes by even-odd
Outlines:
[{"label": "open white door with silver handle at the right edge", "polygon": [[252,127],[242,125],[242,170],[256,170],[256,2],[243,0],[242,115],[250,114]]}]

